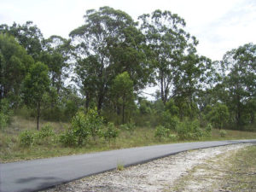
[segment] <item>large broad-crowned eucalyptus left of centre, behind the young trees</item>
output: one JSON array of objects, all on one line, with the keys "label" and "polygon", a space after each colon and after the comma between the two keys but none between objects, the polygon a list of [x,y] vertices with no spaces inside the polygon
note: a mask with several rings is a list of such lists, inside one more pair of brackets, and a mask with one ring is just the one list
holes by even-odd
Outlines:
[{"label": "large broad-crowned eucalyptus left of centre, behind the young trees", "polygon": [[86,97],[86,107],[96,98],[100,112],[110,84],[119,73],[130,73],[138,87],[147,82],[144,72],[148,66],[138,46],[143,35],[130,15],[109,7],[86,11],[84,20],[83,26],[70,33],[76,46],[75,72]]}]

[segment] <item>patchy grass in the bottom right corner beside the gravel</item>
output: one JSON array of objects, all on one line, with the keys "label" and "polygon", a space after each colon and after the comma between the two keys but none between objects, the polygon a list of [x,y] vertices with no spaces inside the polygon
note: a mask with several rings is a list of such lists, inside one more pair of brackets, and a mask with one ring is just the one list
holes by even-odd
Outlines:
[{"label": "patchy grass in the bottom right corner beside the gravel", "polygon": [[207,160],[166,191],[256,191],[256,146]]}]

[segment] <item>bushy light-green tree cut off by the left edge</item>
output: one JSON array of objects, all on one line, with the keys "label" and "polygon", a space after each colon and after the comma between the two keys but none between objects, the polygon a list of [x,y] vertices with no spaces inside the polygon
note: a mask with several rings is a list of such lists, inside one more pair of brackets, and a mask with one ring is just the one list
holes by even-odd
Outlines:
[{"label": "bushy light-green tree cut off by the left edge", "polygon": [[19,102],[20,82],[33,62],[15,38],[0,34],[0,100],[9,97],[10,102]]}]

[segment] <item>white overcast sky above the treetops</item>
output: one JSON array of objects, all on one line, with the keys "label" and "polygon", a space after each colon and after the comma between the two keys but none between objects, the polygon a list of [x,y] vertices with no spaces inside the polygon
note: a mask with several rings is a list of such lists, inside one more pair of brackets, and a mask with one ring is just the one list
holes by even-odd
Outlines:
[{"label": "white overcast sky above the treetops", "polygon": [[243,44],[256,44],[256,0],[0,0],[0,24],[32,20],[44,38],[81,26],[87,9],[109,6],[137,20],[155,9],[170,10],[187,23],[187,32],[199,40],[200,55],[221,60]]}]

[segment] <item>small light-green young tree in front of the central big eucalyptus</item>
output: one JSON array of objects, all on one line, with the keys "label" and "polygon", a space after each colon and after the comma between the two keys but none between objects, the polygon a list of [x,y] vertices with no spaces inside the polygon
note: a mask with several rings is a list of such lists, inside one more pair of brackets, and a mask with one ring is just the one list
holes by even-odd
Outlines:
[{"label": "small light-green young tree in front of the central big eucalyptus", "polygon": [[113,79],[111,92],[116,105],[122,108],[122,124],[125,124],[125,109],[134,102],[133,82],[127,72]]}]

